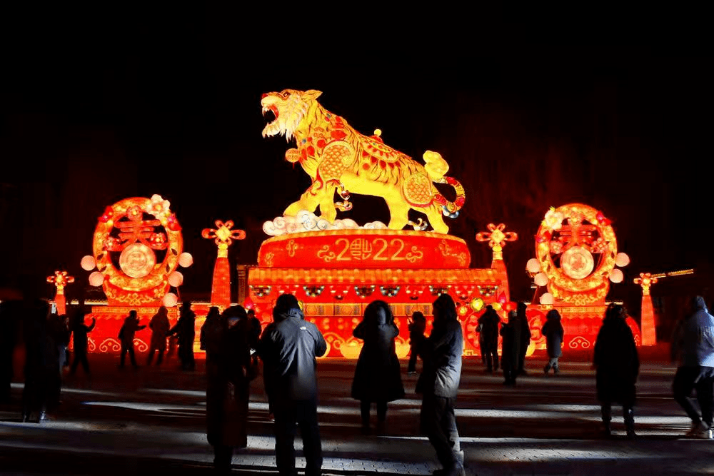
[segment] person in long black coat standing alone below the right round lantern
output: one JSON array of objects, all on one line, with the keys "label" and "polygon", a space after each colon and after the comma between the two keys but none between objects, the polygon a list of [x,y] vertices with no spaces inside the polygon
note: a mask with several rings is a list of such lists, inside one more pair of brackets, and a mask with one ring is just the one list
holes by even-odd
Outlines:
[{"label": "person in long black coat standing alone below the right round lantern", "polygon": [[612,404],[623,406],[623,419],[628,437],[635,436],[635,383],[640,373],[640,358],[635,338],[627,324],[622,305],[610,305],[605,310],[603,325],[595,340],[595,384],[602,410],[603,427],[610,435]]}]

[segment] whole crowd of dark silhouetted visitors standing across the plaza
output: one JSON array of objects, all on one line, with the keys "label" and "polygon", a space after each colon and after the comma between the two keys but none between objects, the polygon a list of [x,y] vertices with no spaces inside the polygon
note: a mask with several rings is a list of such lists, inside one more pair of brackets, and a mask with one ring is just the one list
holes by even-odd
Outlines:
[{"label": "whole crowd of dark silhouetted visitors standing across the plaza", "polygon": [[[72,318],[57,315],[47,300],[34,299],[0,303],[0,320],[7,331],[2,334],[4,351],[0,363],[0,401],[9,401],[12,379],[12,338],[21,335],[26,348],[23,422],[41,421],[60,403],[64,369],[74,374],[79,365],[90,374],[87,358],[88,334],[96,320],[87,323],[86,309],[79,305]],[[454,408],[461,380],[463,334],[456,303],[448,294],[433,302],[431,333],[426,336],[423,313],[411,316],[409,328],[411,355],[407,373],[416,374],[417,358],[421,373],[416,393],[421,395],[420,430],[433,445],[442,465],[439,475],[463,475],[463,451],[459,442]],[[21,318],[15,318],[21,316]],[[294,295],[278,297],[273,321],[261,329],[253,310],[233,305],[221,311],[208,310],[201,327],[200,346],[206,351],[206,434],[213,446],[214,465],[227,472],[236,449],[247,446],[248,402],[251,381],[263,373],[268,411],[273,419],[276,465],[281,475],[295,473],[294,440],[299,428],[306,459],[306,475],[321,474],[322,448],[318,425],[317,358],[326,353],[327,344],[320,330],[305,320]],[[176,336],[181,369],[194,370],[193,339],[196,313],[191,303],[181,307],[178,322],[169,324],[168,312],[161,306],[149,321],[151,345],[147,364],[156,352],[161,365],[167,340]],[[603,432],[610,435],[613,403],[622,406],[628,437],[635,437],[634,406],[640,368],[638,349],[623,305],[609,305],[595,340],[593,367],[596,396],[600,402]],[[558,310],[551,309],[540,329],[545,338],[550,370],[559,373],[563,325]],[[119,332],[123,368],[126,354],[134,368],[134,335],[147,325],[139,323],[136,310],[126,316]],[[507,314],[506,322],[491,305],[478,319],[479,342],[486,371],[503,371],[504,383],[515,385],[516,377],[526,373],[524,357],[531,340],[526,305],[518,304]],[[74,336],[74,360],[69,362],[67,347]],[[399,330],[388,303],[375,300],[366,306],[353,336],[363,342],[351,396],[359,401],[362,431],[385,431],[388,403],[405,396],[401,365],[396,354]],[[501,335],[501,359],[498,358]],[[678,323],[672,339],[672,359],[678,362],[673,382],[673,397],[692,422],[689,437],[711,439],[714,425],[714,317],[705,300],[695,296],[685,318]],[[262,365],[261,365],[262,364]],[[697,405],[693,404],[693,393]],[[377,422],[371,425],[371,408],[376,406]]]}]

